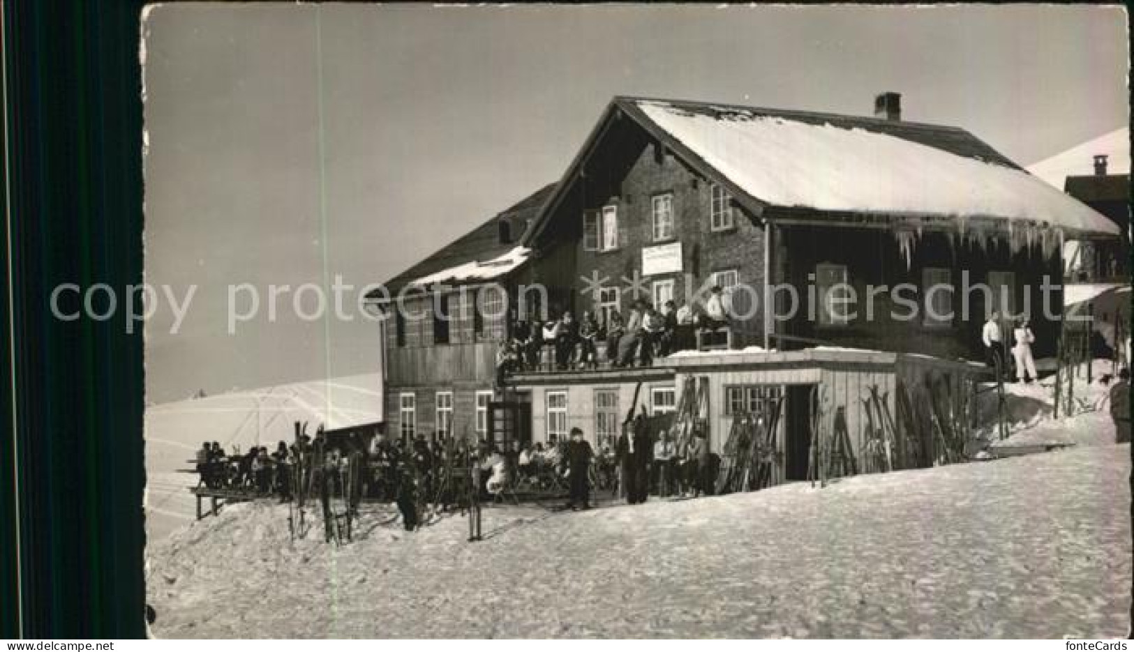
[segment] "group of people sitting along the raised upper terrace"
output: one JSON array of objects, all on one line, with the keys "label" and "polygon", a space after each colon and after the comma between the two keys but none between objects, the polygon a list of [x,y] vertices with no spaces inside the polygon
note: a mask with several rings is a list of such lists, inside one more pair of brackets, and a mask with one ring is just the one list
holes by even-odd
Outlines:
[{"label": "group of people sitting along the raised upper terrace", "polygon": [[720,329],[729,323],[723,289],[713,286],[704,304],[684,303],[677,307],[667,300],[653,306],[635,300],[624,319],[617,310],[604,320],[591,311],[575,319],[570,311],[547,322],[518,320],[509,337],[500,341],[497,352],[498,381],[508,373],[539,370],[544,349],[552,352],[552,364],[559,371],[598,369],[599,344],[606,349],[607,363],[613,367],[649,366],[653,358],[694,348],[697,329]]}]

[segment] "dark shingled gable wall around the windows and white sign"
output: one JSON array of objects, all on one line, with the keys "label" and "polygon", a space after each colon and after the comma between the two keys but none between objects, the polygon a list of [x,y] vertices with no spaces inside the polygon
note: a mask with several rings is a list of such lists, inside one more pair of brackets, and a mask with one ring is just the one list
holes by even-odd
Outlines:
[{"label": "dark shingled gable wall around the windows and white sign", "polygon": [[[653,142],[649,134],[627,120],[612,127],[602,146],[586,163],[585,176],[569,181],[548,230],[541,236],[544,255],[536,260],[522,280],[535,280],[561,288],[552,297],[552,314],[557,310],[596,310],[595,297],[585,294],[583,278],[608,279],[603,287],[620,287],[619,311],[627,314],[635,298],[629,283],[623,281],[642,272],[642,249],[661,244],[682,244],[682,270],[645,277],[644,289],[653,281],[674,281],[674,300],[680,305],[693,297],[708,298],[714,272],[735,270],[741,283],[763,287],[763,228],[739,205],[733,206],[734,227],[713,231],[710,228],[710,180],[694,171],[670,150]],[[654,242],[652,197],[672,195],[674,237]],[[583,243],[583,214],[613,205],[618,215],[618,247],[612,251],[587,251]],[[686,277],[688,274],[688,277]],[[700,294],[699,294],[700,291]],[[737,302],[746,300],[738,298]],[[763,316],[756,303],[754,314],[737,321],[736,328],[745,341],[760,341]],[[737,307],[743,307],[737,305]]]}]

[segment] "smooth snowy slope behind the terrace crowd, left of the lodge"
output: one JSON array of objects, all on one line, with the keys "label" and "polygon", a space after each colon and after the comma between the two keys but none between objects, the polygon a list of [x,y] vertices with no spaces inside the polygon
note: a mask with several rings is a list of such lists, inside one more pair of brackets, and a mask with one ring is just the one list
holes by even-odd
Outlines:
[{"label": "smooth snowy slope behind the terrace crowd, left of the lodge", "polygon": [[380,373],[297,382],[200,399],[150,406],[145,410],[146,525],[151,539],[162,537],[193,518],[194,502],[186,488],[196,476],[189,468],[202,441],[234,447],[276,448],[291,441],[294,422],[308,422],[308,432],[382,421]]}]

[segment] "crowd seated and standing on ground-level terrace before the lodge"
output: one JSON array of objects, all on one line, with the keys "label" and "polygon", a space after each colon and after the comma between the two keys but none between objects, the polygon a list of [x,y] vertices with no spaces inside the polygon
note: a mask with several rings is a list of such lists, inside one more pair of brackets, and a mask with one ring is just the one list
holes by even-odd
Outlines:
[{"label": "crowd seated and standing on ground-level terrace before the lodge", "polygon": [[[612,446],[611,446],[612,444]],[[569,508],[589,509],[591,494],[606,490],[633,503],[650,494],[700,496],[711,493],[713,457],[703,438],[678,450],[666,431],[650,434],[644,420],[627,424],[620,437],[598,451],[573,429],[568,438],[555,434],[544,442],[510,441],[506,446],[481,440],[423,434],[406,442],[384,433],[369,442],[350,434],[331,446],[322,432],[304,434],[293,444],[279,442],[274,452],[252,447],[246,454],[227,454],[219,442],[204,442],[197,451],[200,484],[211,490],[240,491],[289,501],[307,496],[346,499],[357,510],[362,498],[395,502],[407,530],[417,527],[426,505],[446,510],[468,505],[472,485],[482,500],[499,500],[506,492],[561,496]]]}]

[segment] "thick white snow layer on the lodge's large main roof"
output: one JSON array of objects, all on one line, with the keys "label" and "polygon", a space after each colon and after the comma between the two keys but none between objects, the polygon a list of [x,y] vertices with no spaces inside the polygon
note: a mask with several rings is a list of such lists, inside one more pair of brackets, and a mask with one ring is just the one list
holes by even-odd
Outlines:
[{"label": "thick white snow layer on the lodge's large main roof", "polygon": [[1024,171],[877,130],[742,109],[714,116],[665,101],[636,104],[721,175],[771,205],[1118,232],[1110,220]]}]

